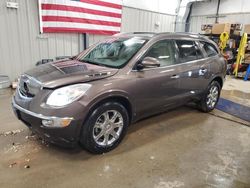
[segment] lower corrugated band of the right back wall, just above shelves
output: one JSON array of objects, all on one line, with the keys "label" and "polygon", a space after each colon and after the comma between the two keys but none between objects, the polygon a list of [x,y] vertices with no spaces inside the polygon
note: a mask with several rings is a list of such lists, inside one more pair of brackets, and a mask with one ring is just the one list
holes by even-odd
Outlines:
[{"label": "lower corrugated band of the right back wall, just above shelves", "polygon": [[[219,23],[250,24],[250,13],[220,14],[220,16]],[[211,15],[191,16],[190,32],[200,33],[201,25],[213,23],[215,23],[215,18],[211,18]]]}]

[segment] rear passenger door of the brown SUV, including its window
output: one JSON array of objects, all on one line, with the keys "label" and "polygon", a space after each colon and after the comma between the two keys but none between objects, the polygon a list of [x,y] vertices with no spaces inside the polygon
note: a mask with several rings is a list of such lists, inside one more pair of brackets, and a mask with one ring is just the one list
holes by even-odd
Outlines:
[{"label": "rear passenger door of the brown SUV, including its window", "polygon": [[[201,93],[209,81],[210,64],[198,41],[175,40],[181,64],[180,92],[183,99]],[[185,102],[185,100],[183,100]]]}]

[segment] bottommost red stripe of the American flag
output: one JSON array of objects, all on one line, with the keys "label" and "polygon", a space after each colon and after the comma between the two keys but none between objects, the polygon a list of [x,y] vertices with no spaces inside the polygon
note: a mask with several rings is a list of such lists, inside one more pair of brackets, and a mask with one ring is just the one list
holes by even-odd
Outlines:
[{"label": "bottommost red stripe of the American flag", "polygon": [[79,28],[67,28],[67,27],[43,27],[43,31],[46,33],[93,33],[101,35],[114,35],[118,32],[93,30],[93,29],[79,29]]}]

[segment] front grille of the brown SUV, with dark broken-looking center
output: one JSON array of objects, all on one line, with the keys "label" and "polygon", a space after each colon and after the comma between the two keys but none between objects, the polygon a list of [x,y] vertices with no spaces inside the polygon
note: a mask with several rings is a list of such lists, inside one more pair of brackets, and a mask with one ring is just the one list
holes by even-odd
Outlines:
[{"label": "front grille of the brown SUV, with dark broken-looking center", "polygon": [[22,75],[18,89],[22,96],[32,98],[40,91],[41,83],[33,77]]}]

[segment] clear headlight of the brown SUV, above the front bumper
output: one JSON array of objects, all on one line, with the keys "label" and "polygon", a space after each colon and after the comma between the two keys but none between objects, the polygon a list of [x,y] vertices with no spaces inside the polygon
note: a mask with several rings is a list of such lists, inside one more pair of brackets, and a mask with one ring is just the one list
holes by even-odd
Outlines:
[{"label": "clear headlight of the brown SUV, above the front bumper", "polygon": [[56,89],[50,94],[46,104],[54,107],[68,105],[82,97],[90,87],[90,84],[75,84]]}]

